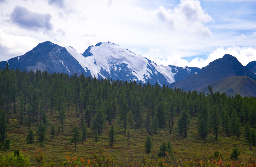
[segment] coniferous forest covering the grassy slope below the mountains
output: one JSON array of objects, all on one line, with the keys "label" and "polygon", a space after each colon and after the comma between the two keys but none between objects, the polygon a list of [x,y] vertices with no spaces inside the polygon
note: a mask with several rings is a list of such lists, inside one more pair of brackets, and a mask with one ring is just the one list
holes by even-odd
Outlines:
[{"label": "coniferous forest covering the grassy slope below the mountains", "polygon": [[55,156],[51,163],[63,166],[76,160],[69,156],[89,166],[185,166],[254,156],[255,97],[230,97],[210,85],[208,91],[27,72],[7,64],[0,70],[0,157],[19,153],[30,165],[43,162],[44,155],[44,163]]}]

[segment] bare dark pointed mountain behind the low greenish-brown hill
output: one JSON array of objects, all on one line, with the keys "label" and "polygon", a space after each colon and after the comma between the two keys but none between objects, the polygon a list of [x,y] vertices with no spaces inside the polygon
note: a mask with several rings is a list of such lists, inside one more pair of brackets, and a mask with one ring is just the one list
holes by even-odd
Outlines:
[{"label": "bare dark pointed mountain behind the low greenish-brown hill", "polygon": [[244,67],[237,58],[225,54],[222,58],[214,60],[208,66],[203,67],[198,74],[190,75],[185,80],[173,83],[171,87],[179,87],[184,90],[199,90],[219,79],[242,75],[256,80],[256,74]]}]

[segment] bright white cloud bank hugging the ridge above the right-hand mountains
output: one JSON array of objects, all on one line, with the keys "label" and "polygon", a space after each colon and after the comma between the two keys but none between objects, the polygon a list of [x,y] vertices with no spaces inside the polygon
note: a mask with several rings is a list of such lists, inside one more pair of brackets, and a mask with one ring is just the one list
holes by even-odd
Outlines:
[{"label": "bright white cloud bank hugging the ridge above the right-hand mountains", "polygon": [[153,52],[149,52],[149,54],[145,54],[143,56],[159,65],[162,64],[164,66],[175,65],[179,67],[189,66],[202,68],[207,66],[210,62],[222,58],[225,54],[235,56],[243,66],[246,66],[249,62],[256,60],[256,49],[244,47],[218,47],[215,49],[215,51],[209,53],[206,59],[197,57],[190,62],[184,58],[181,58],[179,55],[168,56],[167,59],[159,59],[152,53]]}]

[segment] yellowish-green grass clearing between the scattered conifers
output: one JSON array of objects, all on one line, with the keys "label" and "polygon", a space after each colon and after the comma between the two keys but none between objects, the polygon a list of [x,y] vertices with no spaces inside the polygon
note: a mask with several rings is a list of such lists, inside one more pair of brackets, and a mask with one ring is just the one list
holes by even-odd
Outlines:
[{"label": "yellowish-green grass clearing between the scattered conifers", "polygon": [[[55,156],[55,160],[63,161],[65,156],[69,155],[70,157],[86,157],[91,156],[92,153],[97,151],[95,145],[98,143],[104,154],[109,154],[115,160],[118,161],[130,161],[136,158],[141,157],[145,154],[145,139],[147,134],[146,128],[144,125],[142,128],[137,129],[134,125],[128,125],[130,129],[130,140],[128,140],[127,132],[124,133],[121,127],[117,127],[117,119],[113,121],[115,130],[117,132],[117,139],[114,142],[113,146],[109,146],[107,133],[110,129],[110,125],[106,121],[106,124],[103,128],[102,135],[98,136],[98,141],[94,141],[94,132],[90,128],[87,128],[87,138],[86,141],[79,142],[77,144],[77,150],[75,151],[75,146],[73,143],[70,143],[70,132],[74,125],[79,125],[80,118],[75,117],[75,112],[72,110],[70,113],[67,113],[67,119],[65,120],[63,132],[59,132],[58,112],[53,112],[53,115],[50,115],[50,112],[47,112],[47,139],[43,142],[43,146],[38,143],[37,140],[33,144],[26,143],[26,136],[28,134],[28,125],[23,123],[19,125],[19,115],[12,115],[9,120],[9,129],[7,131],[8,137],[11,139],[11,149],[4,150],[1,149],[2,153],[14,152],[15,149],[21,150],[23,154],[34,159],[35,153],[41,148],[45,159],[50,159],[51,156]],[[171,141],[171,146],[173,149],[173,156],[185,158],[187,160],[195,156],[205,156],[210,157],[213,153],[218,150],[222,154],[224,159],[229,159],[229,156],[233,149],[237,147],[240,150],[241,158],[255,155],[255,149],[249,150],[249,145],[245,142],[244,138],[241,137],[238,140],[234,135],[226,137],[225,133],[222,131],[222,128],[219,128],[218,140],[215,140],[215,135],[209,133],[205,140],[201,139],[197,132],[197,118],[193,117],[191,119],[191,125],[189,126],[189,133],[187,137],[181,136],[180,140],[177,133],[177,116],[174,120],[174,127],[172,128],[173,132],[170,134],[168,129],[159,129],[157,134],[152,134],[151,140],[153,142],[153,147],[151,153],[147,154],[149,158],[156,158],[157,152],[159,151],[159,146],[163,142]],[[38,126],[39,121],[32,123],[31,128],[34,133],[36,127]],[[51,136],[51,127],[55,125],[55,135],[54,139]]]}]

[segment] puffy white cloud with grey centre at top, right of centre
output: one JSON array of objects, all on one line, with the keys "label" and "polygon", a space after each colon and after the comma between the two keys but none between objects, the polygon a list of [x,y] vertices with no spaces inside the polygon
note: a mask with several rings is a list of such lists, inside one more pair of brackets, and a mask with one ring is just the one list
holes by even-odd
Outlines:
[{"label": "puffy white cloud with grey centre at top, right of centre", "polygon": [[163,6],[156,10],[159,20],[175,31],[185,31],[192,34],[209,37],[211,31],[204,24],[213,22],[213,19],[202,9],[198,0],[181,0],[178,7],[173,10]]}]

